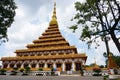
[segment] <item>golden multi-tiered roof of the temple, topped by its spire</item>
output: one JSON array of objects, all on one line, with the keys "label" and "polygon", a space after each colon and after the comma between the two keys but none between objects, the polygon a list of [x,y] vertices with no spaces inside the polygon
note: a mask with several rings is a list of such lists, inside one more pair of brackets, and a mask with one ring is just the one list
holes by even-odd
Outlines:
[{"label": "golden multi-tiered roof of the temple, topped by its spire", "polygon": [[37,40],[34,40],[33,44],[28,44],[26,47],[27,49],[16,50],[16,57],[6,57],[2,60],[87,59],[85,54],[77,54],[76,47],[70,46],[68,41],[61,35],[56,17],[56,3],[54,3],[53,16],[48,29]]}]

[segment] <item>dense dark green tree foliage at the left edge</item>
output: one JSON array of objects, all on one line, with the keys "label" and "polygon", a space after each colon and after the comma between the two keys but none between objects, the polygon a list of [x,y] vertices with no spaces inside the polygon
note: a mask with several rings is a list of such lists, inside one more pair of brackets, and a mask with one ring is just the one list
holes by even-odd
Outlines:
[{"label": "dense dark green tree foliage at the left edge", "polygon": [[8,41],[7,29],[14,21],[16,8],[13,0],[0,0],[0,44]]}]

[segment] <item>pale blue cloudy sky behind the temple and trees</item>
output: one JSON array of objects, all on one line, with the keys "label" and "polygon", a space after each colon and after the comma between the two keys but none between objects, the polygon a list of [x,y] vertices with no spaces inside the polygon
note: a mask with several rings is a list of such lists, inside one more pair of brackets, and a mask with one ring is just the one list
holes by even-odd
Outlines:
[{"label": "pale blue cloudy sky behind the temple and trees", "polygon": [[[100,47],[95,49],[94,45],[91,49],[85,42],[79,40],[81,28],[75,33],[68,27],[75,23],[71,22],[71,18],[76,14],[74,3],[82,0],[56,0],[56,12],[59,29],[70,45],[76,46],[78,53],[86,53],[88,56],[86,64],[96,63],[105,65],[103,53],[106,52],[104,42],[100,42]],[[25,49],[27,44],[31,44],[33,40],[48,28],[53,13],[54,0],[15,0],[17,5],[15,21],[8,29],[9,41],[0,45],[0,58],[16,56],[16,50]],[[112,40],[109,41],[110,51],[115,55],[119,55]],[[1,65],[2,62],[0,62]]]}]

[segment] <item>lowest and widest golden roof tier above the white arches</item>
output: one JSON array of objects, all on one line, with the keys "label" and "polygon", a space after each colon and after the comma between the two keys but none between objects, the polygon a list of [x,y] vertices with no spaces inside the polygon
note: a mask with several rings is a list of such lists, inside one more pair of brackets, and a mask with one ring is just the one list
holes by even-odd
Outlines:
[{"label": "lowest and widest golden roof tier above the white arches", "polygon": [[85,54],[67,54],[67,55],[49,55],[49,56],[24,56],[24,57],[3,57],[2,61],[7,60],[45,60],[45,59],[69,59],[69,58],[83,58],[87,59]]}]

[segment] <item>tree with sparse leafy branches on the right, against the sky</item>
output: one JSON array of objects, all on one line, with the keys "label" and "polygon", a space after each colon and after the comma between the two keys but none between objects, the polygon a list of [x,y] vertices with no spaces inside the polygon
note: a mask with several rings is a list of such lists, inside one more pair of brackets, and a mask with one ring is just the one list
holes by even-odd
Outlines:
[{"label": "tree with sparse leafy branches on the right, against the sky", "polygon": [[99,46],[98,39],[111,37],[120,52],[120,2],[118,0],[86,0],[76,2],[77,14],[72,18],[77,23],[70,27],[75,31],[82,26],[80,39],[90,48],[92,43]]}]

